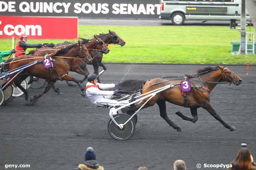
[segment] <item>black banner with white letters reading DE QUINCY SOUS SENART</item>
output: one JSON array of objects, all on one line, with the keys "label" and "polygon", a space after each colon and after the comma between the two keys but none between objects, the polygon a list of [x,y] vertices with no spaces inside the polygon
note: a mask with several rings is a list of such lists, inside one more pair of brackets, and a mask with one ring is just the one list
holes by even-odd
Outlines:
[{"label": "black banner with white letters reading DE QUINCY SOUS SENART", "polygon": [[159,0],[3,0],[0,15],[77,16],[79,18],[158,18]]}]

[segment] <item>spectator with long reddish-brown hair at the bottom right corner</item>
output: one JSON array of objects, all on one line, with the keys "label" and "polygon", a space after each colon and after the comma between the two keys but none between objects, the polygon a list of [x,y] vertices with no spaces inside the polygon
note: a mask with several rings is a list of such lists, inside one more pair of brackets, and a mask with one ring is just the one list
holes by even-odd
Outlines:
[{"label": "spectator with long reddish-brown hair at the bottom right corner", "polygon": [[250,170],[252,168],[252,155],[246,144],[241,144],[241,148],[237,152],[236,158],[230,163],[236,163],[240,170]]}]

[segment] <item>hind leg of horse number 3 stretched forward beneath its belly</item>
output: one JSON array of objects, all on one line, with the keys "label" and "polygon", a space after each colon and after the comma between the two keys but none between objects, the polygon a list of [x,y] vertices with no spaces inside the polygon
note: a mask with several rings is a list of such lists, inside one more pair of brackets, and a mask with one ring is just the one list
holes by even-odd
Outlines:
[{"label": "hind leg of horse number 3 stretched forward beneath its belly", "polygon": [[176,129],[178,132],[181,132],[181,128],[179,126],[177,126],[173,121],[171,121],[169,119],[169,117],[167,116],[167,113],[166,113],[166,103],[165,103],[165,100],[158,100],[156,102],[159,106],[159,110],[160,110],[160,116],[165,119],[165,121],[170,125],[172,126],[174,129]]}]

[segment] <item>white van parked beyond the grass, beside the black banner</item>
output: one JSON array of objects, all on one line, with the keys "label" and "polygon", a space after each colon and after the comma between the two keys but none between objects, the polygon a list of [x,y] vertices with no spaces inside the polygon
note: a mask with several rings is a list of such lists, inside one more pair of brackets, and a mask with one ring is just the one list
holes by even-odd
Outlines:
[{"label": "white van parked beyond the grass, beside the black banner", "polygon": [[171,20],[174,25],[182,25],[185,20],[240,20],[241,0],[160,0],[160,3],[160,19]]}]

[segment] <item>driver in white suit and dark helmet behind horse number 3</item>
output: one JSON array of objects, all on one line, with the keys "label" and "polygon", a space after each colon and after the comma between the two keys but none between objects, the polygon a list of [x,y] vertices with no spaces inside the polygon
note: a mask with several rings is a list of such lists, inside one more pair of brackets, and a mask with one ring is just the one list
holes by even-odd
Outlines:
[{"label": "driver in white suit and dark helmet behind horse number 3", "polygon": [[102,104],[113,106],[118,103],[119,106],[128,104],[129,101],[115,101],[111,100],[113,95],[119,93],[119,90],[114,91],[103,91],[100,89],[114,88],[115,84],[102,84],[97,82],[97,76],[94,73],[91,73],[87,77],[86,84],[86,96],[93,104]]}]

